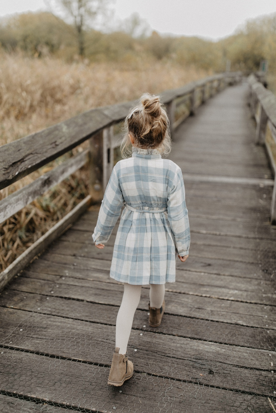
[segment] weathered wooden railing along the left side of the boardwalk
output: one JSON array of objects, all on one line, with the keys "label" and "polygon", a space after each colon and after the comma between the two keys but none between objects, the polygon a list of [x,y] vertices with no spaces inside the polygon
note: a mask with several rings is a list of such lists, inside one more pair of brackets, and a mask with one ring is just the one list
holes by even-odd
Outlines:
[{"label": "weathered wooden railing along the left side of the boardwalk", "polygon": [[[187,116],[195,114],[200,104],[226,86],[239,82],[241,78],[240,72],[228,72],[162,93],[163,103],[170,117],[171,134],[173,135],[175,128]],[[120,134],[116,134],[115,130],[134,103],[127,102],[92,109],[0,147],[0,189],[2,189],[89,140],[89,150],[67,159],[0,201],[0,222],[17,213],[85,164],[89,168],[90,176],[89,195],[0,274],[0,290],[76,221],[90,204],[101,201],[114,166],[114,149],[121,142]]]}]

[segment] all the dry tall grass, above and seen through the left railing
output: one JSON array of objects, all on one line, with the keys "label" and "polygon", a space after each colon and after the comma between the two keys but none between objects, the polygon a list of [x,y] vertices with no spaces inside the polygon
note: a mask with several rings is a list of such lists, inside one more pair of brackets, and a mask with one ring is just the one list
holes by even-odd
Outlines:
[{"label": "all the dry tall grass, above and seen through the left railing", "polygon": [[[209,74],[169,62],[141,62],[136,67],[114,63],[66,64],[54,58],[28,59],[2,53],[0,145],[88,109],[133,100],[145,91],[158,94]],[[0,199],[53,166],[51,163],[0,191]],[[82,170],[2,223],[0,268],[6,268],[86,194],[86,172]]]}]

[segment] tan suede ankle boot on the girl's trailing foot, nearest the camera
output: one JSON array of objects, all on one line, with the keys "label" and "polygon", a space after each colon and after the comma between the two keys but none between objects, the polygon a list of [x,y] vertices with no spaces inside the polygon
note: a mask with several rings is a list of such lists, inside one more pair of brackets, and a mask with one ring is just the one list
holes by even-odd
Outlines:
[{"label": "tan suede ankle boot on the girl's trailing foot, nearest the camera", "polygon": [[127,360],[127,354],[119,354],[119,347],[115,348],[113,353],[112,364],[108,376],[108,384],[113,386],[122,386],[133,375],[133,364]]}]

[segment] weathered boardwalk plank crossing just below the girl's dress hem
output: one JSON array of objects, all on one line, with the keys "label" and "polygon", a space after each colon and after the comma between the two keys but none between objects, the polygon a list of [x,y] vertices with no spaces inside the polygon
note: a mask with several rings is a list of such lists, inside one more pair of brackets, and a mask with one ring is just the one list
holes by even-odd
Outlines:
[{"label": "weathered boardwalk plank crossing just below the girl's dress hem", "polygon": [[[12,290],[41,293],[53,297],[67,297],[99,304],[120,305],[122,285],[92,280],[86,281],[86,283],[88,282],[89,286],[65,285],[19,277],[14,280],[10,288]],[[142,289],[141,297],[138,308],[146,309],[148,304],[147,289]],[[189,294],[175,294],[172,292],[166,292],[166,303],[167,311],[171,314],[252,327],[263,328],[265,325],[268,325],[269,329],[276,329],[275,307],[270,305],[243,303]]]}]

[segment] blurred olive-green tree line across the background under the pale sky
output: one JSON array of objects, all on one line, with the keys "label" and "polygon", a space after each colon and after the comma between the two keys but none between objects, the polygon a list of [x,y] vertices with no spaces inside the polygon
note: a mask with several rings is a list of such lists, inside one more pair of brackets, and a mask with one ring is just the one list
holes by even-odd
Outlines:
[{"label": "blurred olive-green tree line across the background under the pale sky", "polygon": [[269,71],[276,73],[276,14],[247,21],[235,34],[219,41],[150,32],[137,15],[108,32],[84,25],[79,16],[72,17],[72,23],[53,12],[2,19],[0,47],[30,57],[53,55],[67,62],[80,56],[88,62],[122,62],[137,67],[154,59],[213,72],[224,71],[227,62],[231,70],[256,71],[265,60]]}]

